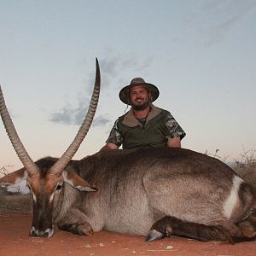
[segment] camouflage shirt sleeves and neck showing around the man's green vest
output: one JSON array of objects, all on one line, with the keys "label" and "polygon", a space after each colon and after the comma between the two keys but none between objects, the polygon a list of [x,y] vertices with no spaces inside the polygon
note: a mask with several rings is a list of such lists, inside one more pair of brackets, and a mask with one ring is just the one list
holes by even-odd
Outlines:
[{"label": "camouflage shirt sleeves and neck showing around the man's green vest", "polygon": [[[159,110],[160,108],[156,108],[156,107],[154,107],[154,105],[152,105],[151,112],[155,111],[155,109]],[[130,115],[132,114],[132,116],[134,117],[131,109],[128,113]],[[128,114],[128,113],[126,113],[126,114]],[[145,120],[137,120],[137,122],[143,125],[143,123],[145,123]],[[119,119],[117,119],[114,122],[113,128],[110,131],[110,134],[109,134],[109,137],[108,137],[108,140],[106,141],[106,143],[113,143],[113,144],[117,145],[118,147],[120,147],[123,144],[123,137],[122,137],[121,131],[119,130],[118,123],[119,123]],[[186,136],[186,133],[183,131],[181,126],[178,125],[176,119],[174,119],[174,117],[172,116],[172,114],[170,112],[168,112],[168,114],[166,116],[166,133],[163,136],[165,136],[167,139],[172,139],[174,137],[180,137],[181,140],[183,139],[183,137]]]}]

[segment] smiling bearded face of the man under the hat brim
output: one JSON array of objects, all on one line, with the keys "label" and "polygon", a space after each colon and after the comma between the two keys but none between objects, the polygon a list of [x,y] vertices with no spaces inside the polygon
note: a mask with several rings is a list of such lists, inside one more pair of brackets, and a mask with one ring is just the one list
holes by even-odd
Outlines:
[{"label": "smiling bearded face of the man under the hat brim", "polygon": [[136,110],[143,110],[150,103],[150,93],[144,85],[135,85],[130,90],[131,107]]}]

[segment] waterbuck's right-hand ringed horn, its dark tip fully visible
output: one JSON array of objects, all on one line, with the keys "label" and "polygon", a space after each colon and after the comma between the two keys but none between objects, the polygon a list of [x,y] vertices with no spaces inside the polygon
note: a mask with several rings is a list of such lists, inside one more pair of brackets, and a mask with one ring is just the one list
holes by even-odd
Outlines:
[{"label": "waterbuck's right-hand ringed horn, its dark tip fully visible", "polygon": [[55,162],[55,165],[50,168],[50,172],[55,175],[61,175],[64,168],[67,166],[70,160],[72,160],[73,155],[78,151],[80,144],[83,142],[84,137],[90,129],[90,125],[92,123],[93,117],[96,113],[96,107],[99,100],[100,95],[100,87],[101,87],[101,73],[99,62],[96,59],[96,79],[94,90],[92,96],[90,98],[90,106],[86,113],[83,124],[80,126],[79,131],[73,139],[73,143],[67,148],[66,152],[62,154],[61,158]]}]

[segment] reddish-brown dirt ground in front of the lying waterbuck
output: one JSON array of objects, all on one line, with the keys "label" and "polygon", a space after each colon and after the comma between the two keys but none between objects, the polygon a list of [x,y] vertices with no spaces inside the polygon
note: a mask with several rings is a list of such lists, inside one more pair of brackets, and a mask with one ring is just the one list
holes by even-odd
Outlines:
[{"label": "reddish-brown dirt ground in front of the lying waterbuck", "polygon": [[231,245],[173,236],[147,243],[143,236],[106,231],[76,236],[61,230],[55,230],[50,238],[32,237],[29,207],[24,196],[11,195],[0,200],[0,255],[256,255],[256,241]]}]

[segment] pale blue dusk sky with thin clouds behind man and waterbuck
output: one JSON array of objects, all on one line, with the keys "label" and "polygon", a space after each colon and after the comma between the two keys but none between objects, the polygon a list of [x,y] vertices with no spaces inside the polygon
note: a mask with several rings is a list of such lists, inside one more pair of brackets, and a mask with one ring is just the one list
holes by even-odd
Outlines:
[{"label": "pale blue dusk sky with thin clouds behind man and waterbuck", "polygon": [[[254,0],[0,1],[0,84],[33,160],[60,157],[102,73],[96,117],[73,159],[95,154],[142,77],[186,132],[182,147],[230,160],[256,148]],[[0,168],[22,165],[0,122]]]}]

